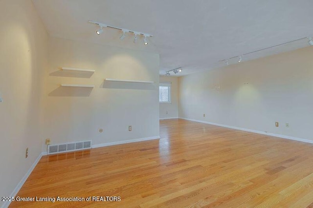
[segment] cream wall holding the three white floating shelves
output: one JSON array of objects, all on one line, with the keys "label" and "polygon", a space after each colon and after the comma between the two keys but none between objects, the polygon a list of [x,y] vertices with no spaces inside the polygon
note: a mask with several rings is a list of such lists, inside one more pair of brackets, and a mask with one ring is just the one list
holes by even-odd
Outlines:
[{"label": "cream wall holding the three white floating shelves", "polygon": [[[61,67],[96,72],[68,73]],[[99,145],[158,137],[158,69],[155,53],[50,38],[45,138],[52,144],[92,140]],[[105,78],[155,83],[104,82]],[[61,83],[95,87],[61,87]]]}]

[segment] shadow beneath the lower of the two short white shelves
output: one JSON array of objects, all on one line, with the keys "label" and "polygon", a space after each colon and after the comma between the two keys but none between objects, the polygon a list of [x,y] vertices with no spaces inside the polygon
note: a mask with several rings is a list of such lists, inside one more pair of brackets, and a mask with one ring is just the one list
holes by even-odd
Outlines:
[{"label": "shadow beneath the lower of the two short white shelves", "polygon": [[48,94],[51,97],[89,97],[93,88],[59,86]]}]

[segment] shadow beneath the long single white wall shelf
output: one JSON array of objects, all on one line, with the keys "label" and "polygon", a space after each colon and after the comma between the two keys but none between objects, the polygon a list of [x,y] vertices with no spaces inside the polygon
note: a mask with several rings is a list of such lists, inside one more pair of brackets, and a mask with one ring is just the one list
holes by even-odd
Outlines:
[{"label": "shadow beneath the long single white wall shelf", "polygon": [[128,82],[114,82],[114,81],[103,81],[101,84],[102,88],[111,89],[141,89],[141,90],[156,90],[153,83],[128,83]]}]

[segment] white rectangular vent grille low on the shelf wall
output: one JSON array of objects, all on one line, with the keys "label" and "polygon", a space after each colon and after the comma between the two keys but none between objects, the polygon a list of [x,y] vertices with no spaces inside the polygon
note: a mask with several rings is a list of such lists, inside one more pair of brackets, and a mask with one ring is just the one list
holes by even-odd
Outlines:
[{"label": "white rectangular vent grille low on the shelf wall", "polygon": [[91,140],[48,145],[48,155],[91,148]]}]

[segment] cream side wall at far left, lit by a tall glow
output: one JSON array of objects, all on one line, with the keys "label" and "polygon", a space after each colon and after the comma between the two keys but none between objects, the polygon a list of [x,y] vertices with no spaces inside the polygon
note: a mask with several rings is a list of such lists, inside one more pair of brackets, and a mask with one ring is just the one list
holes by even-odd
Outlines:
[{"label": "cream side wall at far left, lit by a tall glow", "polygon": [[0,14],[2,197],[10,196],[41,154],[47,33],[30,0],[1,0]]}]

